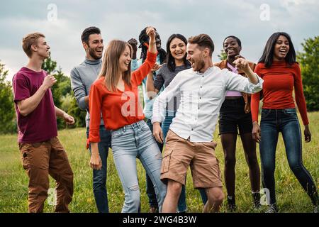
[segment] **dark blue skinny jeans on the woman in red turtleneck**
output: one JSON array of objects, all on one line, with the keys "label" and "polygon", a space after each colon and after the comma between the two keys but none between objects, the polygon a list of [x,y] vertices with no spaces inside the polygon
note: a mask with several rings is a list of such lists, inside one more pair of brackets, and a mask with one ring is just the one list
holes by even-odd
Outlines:
[{"label": "dark blue skinny jeans on the woman in red turtleneck", "polygon": [[313,204],[317,204],[318,192],[308,170],[303,166],[301,128],[296,109],[263,109],[260,128],[262,139],[259,143],[259,150],[262,162],[262,184],[264,188],[269,189],[270,198],[268,203],[276,203],[274,170],[276,145],[279,132],[281,132],[289,167],[310,196]]}]

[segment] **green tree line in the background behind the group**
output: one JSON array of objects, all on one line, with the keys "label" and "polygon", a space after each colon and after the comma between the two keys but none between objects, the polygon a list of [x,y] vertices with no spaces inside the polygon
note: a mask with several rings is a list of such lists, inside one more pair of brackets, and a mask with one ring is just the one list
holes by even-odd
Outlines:
[{"label": "green tree line in the background behind the group", "polygon": [[[303,51],[297,53],[297,61],[301,67],[307,109],[319,111],[319,36],[308,38],[301,45]],[[218,57],[220,60],[225,59],[225,53],[222,51]],[[60,67],[57,68],[57,62],[50,57],[43,62],[42,68],[57,78],[57,83],[51,88],[55,106],[74,116],[75,119],[74,126],[67,126],[60,118],[57,118],[58,129],[85,127],[86,111],[82,111],[77,106],[70,77],[67,77]],[[8,74],[9,71],[0,60],[0,134],[17,132],[12,85],[6,80]]]}]

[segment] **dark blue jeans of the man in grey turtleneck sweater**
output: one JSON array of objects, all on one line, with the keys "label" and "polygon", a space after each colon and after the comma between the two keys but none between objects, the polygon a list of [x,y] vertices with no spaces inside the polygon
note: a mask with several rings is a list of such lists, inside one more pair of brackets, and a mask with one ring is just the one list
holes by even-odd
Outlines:
[{"label": "dark blue jeans of the man in grey turtleneck sweater", "polygon": [[[86,137],[89,137],[89,128],[86,128]],[[93,170],[93,193],[96,207],[100,213],[108,213],[108,194],[106,189],[106,167],[108,148],[111,148],[111,133],[104,126],[100,126],[101,142],[99,143],[99,154],[102,161],[101,170]],[[91,152],[91,145],[89,147]]]}]

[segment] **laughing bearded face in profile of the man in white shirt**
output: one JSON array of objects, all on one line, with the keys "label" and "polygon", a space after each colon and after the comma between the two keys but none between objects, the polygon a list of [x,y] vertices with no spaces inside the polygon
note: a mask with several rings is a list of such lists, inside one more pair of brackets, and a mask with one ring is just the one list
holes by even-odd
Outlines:
[{"label": "laughing bearded face in profile of the man in white shirt", "polygon": [[186,52],[187,57],[186,59],[191,62],[191,67],[194,71],[203,70],[205,67],[205,61],[204,61],[204,49],[200,48],[197,43],[187,43],[186,46]]}]

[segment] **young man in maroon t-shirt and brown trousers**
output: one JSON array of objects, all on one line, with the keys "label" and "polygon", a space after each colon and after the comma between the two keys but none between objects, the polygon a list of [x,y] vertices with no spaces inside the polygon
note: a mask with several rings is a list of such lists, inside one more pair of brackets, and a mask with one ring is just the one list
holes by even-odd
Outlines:
[{"label": "young man in maroon t-shirt and brown trousers", "polygon": [[57,139],[56,116],[73,124],[74,118],[53,103],[51,87],[57,80],[41,69],[50,55],[45,35],[31,33],[22,40],[29,57],[13,77],[13,93],[18,121],[18,145],[23,168],[29,177],[28,210],[43,212],[49,189],[49,174],[56,181],[55,212],[69,212],[73,195],[73,172],[67,153]]}]

